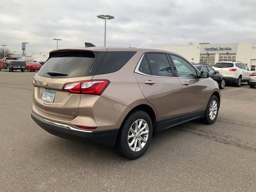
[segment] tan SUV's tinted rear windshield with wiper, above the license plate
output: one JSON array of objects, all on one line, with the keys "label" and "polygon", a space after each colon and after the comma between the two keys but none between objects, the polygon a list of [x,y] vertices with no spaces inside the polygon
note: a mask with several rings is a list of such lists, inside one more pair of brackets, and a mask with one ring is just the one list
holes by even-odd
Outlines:
[{"label": "tan SUV's tinted rear windshield with wiper, above the license plate", "polygon": [[[49,59],[39,70],[38,75],[50,78],[88,76],[93,62],[94,54],[91,51],[54,52],[50,54]],[[50,76],[47,72],[66,75]]]}]

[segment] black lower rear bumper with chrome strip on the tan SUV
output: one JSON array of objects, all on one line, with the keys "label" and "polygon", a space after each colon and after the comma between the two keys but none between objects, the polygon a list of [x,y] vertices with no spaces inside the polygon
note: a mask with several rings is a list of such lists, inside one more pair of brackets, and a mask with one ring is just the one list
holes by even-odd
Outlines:
[{"label": "black lower rear bumper with chrome strip on the tan SUV", "polygon": [[31,113],[31,118],[47,132],[61,138],[75,141],[81,141],[86,138],[91,142],[106,146],[114,146],[116,144],[118,129],[104,131],[81,130],[43,119],[33,112]]}]

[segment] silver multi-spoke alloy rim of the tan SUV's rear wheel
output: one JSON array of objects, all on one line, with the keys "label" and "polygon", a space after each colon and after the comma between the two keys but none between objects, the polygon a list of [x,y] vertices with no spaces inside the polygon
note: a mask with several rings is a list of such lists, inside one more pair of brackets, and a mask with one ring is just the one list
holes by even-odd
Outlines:
[{"label": "silver multi-spoke alloy rim of the tan SUV's rear wheel", "polygon": [[136,120],[128,132],[128,146],[134,151],[140,151],[148,140],[148,124],[144,119]]}]

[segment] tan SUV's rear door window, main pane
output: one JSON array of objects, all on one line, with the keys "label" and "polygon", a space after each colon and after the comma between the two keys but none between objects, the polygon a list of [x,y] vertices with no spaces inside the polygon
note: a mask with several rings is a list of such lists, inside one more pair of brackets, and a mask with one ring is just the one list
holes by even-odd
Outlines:
[{"label": "tan SUV's rear door window, main pane", "polygon": [[146,54],[150,70],[154,76],[172,77],[172,69],[170,67],[166,54],[148,53]]}]

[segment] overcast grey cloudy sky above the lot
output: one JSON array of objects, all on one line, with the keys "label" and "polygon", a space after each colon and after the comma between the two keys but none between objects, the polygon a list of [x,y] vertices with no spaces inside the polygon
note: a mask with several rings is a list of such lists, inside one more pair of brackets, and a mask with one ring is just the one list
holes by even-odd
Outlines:
[{"label": "overcast grey cloudy sky above the lot", "polygon": [[0,44],[21,53],[81,47],[153,47],[252,42],[256,45],[256,0],[1,0]]}]

